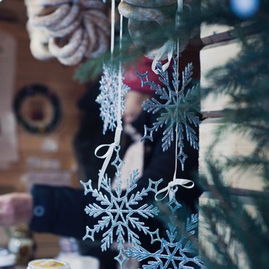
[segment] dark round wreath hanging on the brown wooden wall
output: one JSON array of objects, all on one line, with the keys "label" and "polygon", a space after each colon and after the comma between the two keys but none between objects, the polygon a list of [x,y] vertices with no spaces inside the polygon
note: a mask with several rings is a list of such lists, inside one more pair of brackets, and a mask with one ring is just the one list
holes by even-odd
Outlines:
[{"label": "dark round wreath hanging on the brown wooden wall", "polygon": [[17,121],[34,134],[52,132],[61,120],[61,103],[57,94],[43,84],[24,86],[14,98]]}]

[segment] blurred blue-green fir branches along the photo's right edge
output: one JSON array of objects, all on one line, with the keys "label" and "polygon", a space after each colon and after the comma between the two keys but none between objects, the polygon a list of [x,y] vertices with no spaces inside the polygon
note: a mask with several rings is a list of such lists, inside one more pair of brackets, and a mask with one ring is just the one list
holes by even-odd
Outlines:
[{"label": "blurred blue-green fir branches along the photo's right edge", "polygon": [[[225,93],[231,99],[231,108],[224,111],[223,126],[217,133],[216,141],[223,139],[224,130],[230,130],[241,132],[256,145],[251,156],[229,157],[226,163],[220,164],[213,157],[208,158],[208,170],[214,185],[205,188],[218,203],[217,206],[208,203],[199,209],[206,217],[204,224],[212,232],[210,241],[214,245],[214,257],[201,248],[207,268],[268,268],[269,264],[268,22],[269,2],[266,0],[260,1],[256,14],[243,21],[232,13],[229,1],[205,0],[197,16],[193,19],[190,17],[186,23],[188,27],[199,23],[218,23],[235,28],[234,34],[241,44],[241,52],[235,59],[208,73],[212,86],[202,90],[202,98],[209,93]],[[249,34],[250,29],[253,34]],[[210,156],[210,152],[208,154]],[[230,168],[238,168],[241,172],[250,169],[253,173],[259,172],[263,179],[264,192],[248,193],[256,214],[251,214],[242,199],[226,188],[221,175]],[[203,178],[200,180],[208,181]],[[221,228],[218,223],[221,223]],[[232,252],[234,247],[237,252]],[[243,259],[246,263],[242,262]]]}]

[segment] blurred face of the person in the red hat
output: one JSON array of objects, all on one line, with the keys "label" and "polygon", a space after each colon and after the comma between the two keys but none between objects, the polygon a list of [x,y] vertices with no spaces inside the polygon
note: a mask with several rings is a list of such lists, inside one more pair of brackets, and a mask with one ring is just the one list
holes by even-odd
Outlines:
[{"label": "blurred face of the person in the red hat", "polygon": [[137,117],[142,111],[143,101],[150,97],[151,94],[139,92],[136,90],[130,90],[130,92],[126,94],[126,110],[123,114],[123,120],[125,124],[132,123],[132,121],[135,121],[135,119],[137,119]]}]

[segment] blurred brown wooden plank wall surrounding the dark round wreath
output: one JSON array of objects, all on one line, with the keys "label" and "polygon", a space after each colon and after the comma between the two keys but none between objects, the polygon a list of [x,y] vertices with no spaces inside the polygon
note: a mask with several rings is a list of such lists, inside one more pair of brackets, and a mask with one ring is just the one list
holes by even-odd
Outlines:
[{"label": "blurred brown wooden plank wall surrounding the dark round wreath", "polygon": [[[61,123],[51,135],[30,135],[21,126],[17,126],[19,160],[10,164],[5,170],[0,170],[0,193],[26,189],[21,179],[29,171],[28,157],[59,160],[61,170],[71,172],[72,186],[79,186],[72,139],[79,126],[80,114],[76,105],[84,92],[84,87],[72,81],[74,68],[62,66],[56,60],[41,62],[32,57],[29,49],[29,37],[24,25],[26,8],[23,1],[3,1],[0,10],[1,18],[3,18],[3,14],[13,14],[17,18],[11,21],[0,21],[0,30],[12,34],[17,41],[17,70],[13,93],[16,94],[21,87],[30,83],[44,83],[58,94],[63,110]],[[11,13],[7,13],[7,10],[10,10]],[[52,139],[56,142],[59,150],[43,152],[41,146],[45,139]],[[58,237],[34,235],[34,238],[37,241],[37,257],[53,257],[59,252]],[[3,230],[0,230],[0,245],[5,246],[7,240]]]}]

